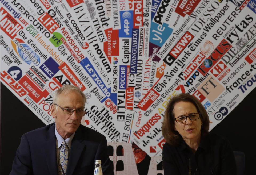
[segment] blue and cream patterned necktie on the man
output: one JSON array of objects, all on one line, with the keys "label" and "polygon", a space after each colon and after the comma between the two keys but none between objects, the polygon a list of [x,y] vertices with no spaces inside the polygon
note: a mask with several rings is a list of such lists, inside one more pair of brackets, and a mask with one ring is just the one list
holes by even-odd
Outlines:
[{"label": "blue and cream patterned necktie on the man", "polygon": [[67,162],[69,160],[69,152],[67,143],[65,141],[62,142],[62,147],[59,152],[59,164],[58,164],[58,174],[65,175],[67,171]]}]

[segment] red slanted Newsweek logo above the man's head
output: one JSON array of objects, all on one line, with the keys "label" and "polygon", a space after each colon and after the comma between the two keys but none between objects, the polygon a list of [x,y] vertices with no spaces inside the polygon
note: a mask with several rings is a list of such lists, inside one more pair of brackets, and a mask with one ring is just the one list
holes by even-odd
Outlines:
[{"label": "red slanted Newsweek logo above the man's head", "polygon": [[74,72],[70,69],[70,67],[65,62],[63,62],[59,66],[59,70],[61,70],[61,72],[69,79],[69,81],[73,85],[80,88],[81,91],[84,91],[86,89],[85,86],[82,84],[82,82],[79,80],[79,78],[74,74]]}]

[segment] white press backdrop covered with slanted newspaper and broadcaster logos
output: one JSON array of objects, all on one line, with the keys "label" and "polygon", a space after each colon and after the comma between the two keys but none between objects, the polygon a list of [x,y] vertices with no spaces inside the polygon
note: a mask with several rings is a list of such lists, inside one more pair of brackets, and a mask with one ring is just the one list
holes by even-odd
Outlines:
[{"label": "white press backdrop covered with slanted newspaper and broadcaster logos", "polygon": [[255,0],[1,1],[1,82],[45,125],[54,92],[78,86],[83,125],[162,156],[171,97],[198,98],[212,130],[255,88],[255,13]]}]

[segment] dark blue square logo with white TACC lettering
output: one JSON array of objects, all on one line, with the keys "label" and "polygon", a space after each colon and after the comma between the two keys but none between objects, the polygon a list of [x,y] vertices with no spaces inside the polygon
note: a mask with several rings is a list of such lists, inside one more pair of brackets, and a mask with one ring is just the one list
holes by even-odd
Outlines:
[{"label": "dark blue square logo with white TACC lettering", "polygon": [[47,75],[47,77],[52,78],[59,71],[58,67],[59,64],[50,57],[39,68]]}]

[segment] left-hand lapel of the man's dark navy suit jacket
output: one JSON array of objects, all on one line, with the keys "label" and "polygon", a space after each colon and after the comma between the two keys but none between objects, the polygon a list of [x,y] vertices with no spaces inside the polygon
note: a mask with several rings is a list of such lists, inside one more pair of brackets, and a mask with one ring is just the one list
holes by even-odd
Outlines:
[{"label": "left-hand lapel of the man's dark navy suit jacket", "polygon": [[46,142],[43,145],[49,172],[51,175],[57,175],[57,158],[56,158],[56,138],[54,131],[55,123],[49,128],[46,134]]}]

